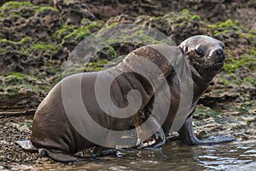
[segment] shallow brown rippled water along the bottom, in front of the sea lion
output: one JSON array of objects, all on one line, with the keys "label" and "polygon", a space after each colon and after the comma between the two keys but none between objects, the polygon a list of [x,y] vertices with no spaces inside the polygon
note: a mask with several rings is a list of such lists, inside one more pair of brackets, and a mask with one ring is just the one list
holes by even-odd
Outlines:
[{"label": "shallow brown rippled water along the bottom, in front of the sea lion", "polygon": [[79,162],[73,167],[82,169],[90,165],[90,170],[256,170],[255,142],[195,146],[168,142],[162,150],[122,153],[122,157],[98,157],[94,162]]}]

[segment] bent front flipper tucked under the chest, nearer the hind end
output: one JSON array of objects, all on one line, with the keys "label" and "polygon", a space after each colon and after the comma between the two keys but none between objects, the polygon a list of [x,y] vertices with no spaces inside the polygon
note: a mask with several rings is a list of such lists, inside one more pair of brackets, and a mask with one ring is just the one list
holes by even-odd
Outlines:
[{"label": "bent front flipper tucked under the chest, nearer the hind end", "polygon": [[136,148],[158,148],[165,143],[166,134],[155,117],[148,117],[147,123],[137,127]]}]

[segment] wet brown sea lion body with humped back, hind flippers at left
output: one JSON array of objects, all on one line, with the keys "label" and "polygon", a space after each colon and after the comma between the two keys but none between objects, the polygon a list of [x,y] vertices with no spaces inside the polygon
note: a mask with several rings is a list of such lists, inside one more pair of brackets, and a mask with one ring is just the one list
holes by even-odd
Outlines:
[{"label": "wet brown sea lion body with humped back, hind flippers at left", "polygon": [[[157,51],[159,47],[170,51],[167,59]],[[139,123],[143,121],[143,109],[154,95],[154,89],[172,73],[170,61],[177,56],[182,56],[177,47],[148,45],[134,50],[118,66],[106,71],[62,79],[38,105],[31,140],[17,141],[17,144],[58,162],[83,160],[73,154],[91,147],[96,146],[94,157],[106,150],[101,147],[114,148],[122,131],[143,124]],[[108,83],[109,80],[113,82]],[[139,97],[132,95],[134,89]],[[147,120],[150,128],[160,128],[154,117]],[[143,132],[140,128],[138,137]],[[155,137],[160,138],[159,145],[165,142],[161,128]]]}]

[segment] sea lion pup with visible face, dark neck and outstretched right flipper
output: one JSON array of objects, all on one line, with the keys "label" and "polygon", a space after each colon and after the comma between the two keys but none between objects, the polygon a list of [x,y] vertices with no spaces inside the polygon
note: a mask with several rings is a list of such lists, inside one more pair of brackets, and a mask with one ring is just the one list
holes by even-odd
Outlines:
[{"label": "sea lion pup with visible face, dark neck and outstretched right flipper", "polygon": [[[212,37],[199,35],[189,37],[184,40],[179,44],[178,48],[181,49],[189,66],[192,77],[192,89],[190,91],[193,92],[193,98],[190,105],[187,104],[187,106],[182,106],[183,109],[189,110],[183,110],[177,113],[182,95],[184,99],[189,98],[187,97],[188,94],[182,94],[180,89],[180,83],[186,82],[186,80],[183,80],[183,78],[180,77],[181,79],[179,81],[177,74],[171,74],[167,77],[167,82],[171,92],[171,103],[166,120],[161,126],[164,132],[167,134],[170,129],[171,131],[177,131],[179,134],[179,140],[187,145],[219,144],[236,140],[235,138],[226,136],[217,136],[215,138],[199,140],[195,136],[192,128],[192,118],[196,103],[200,99],[201,95],[207,90],[212,78],[224,65],[224,43]],[[186,83],[183,83],[183,85],[184,84]],[[189,83],[187,83],[186,86],[189,87]],[[162,118],[161,105],[169,102],[169,99],[166,98],[166,94],[162,93],[161,88],[156,90],[154,96],[157,95],[162,98],[158,101],[155,101],[154,99],[150,100],[148,105],[145,107],[144,112],[145,115],[154,115],[154,117],[159,121]],[[152,113],[153,107],[155,110],[154,113]],[[180,124],[180,120],[178,121],[179,117],[184,117],[183,124]]]}]

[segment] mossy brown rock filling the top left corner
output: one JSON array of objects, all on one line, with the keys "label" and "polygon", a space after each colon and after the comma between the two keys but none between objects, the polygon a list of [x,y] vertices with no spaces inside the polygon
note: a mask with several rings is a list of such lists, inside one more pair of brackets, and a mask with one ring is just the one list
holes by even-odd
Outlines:
[{"label": "mossy brown rock filling the top left corner", "polygon": [[0,37],[18,42],[24,37],[49,37],[61,28],[61,14],[52,7],[29,2],[4,3],[0,8]]}]

